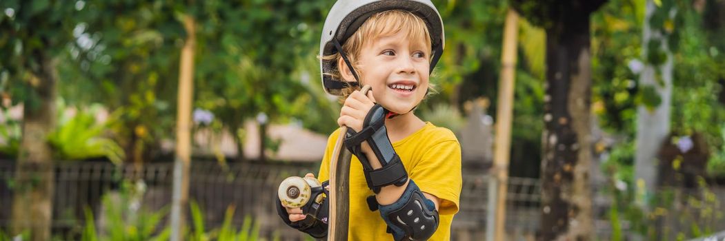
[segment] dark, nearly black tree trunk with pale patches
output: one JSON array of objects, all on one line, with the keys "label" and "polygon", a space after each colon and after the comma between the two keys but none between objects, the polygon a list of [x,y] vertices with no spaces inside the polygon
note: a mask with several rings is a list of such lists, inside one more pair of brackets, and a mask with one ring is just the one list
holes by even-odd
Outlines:
[{"label": "dark, nearly black tree trunk with pale patches", "polygon": [[538,240],[590,240],[593,234],[589,190],[589,12],[568,14],[566,21],[554,20],[546,30],[542,216]]}]

